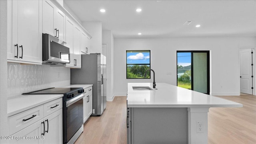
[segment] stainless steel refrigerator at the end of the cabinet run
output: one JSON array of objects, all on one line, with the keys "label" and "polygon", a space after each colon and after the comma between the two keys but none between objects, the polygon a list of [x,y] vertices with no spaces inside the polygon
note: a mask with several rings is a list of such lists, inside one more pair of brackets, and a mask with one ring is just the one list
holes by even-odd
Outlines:
[{"label": "stainless steel refrigerator at the end of the cabinet run", "polygon": [[101,115],[106,108],[106,56],[82,54],[81,63],[81,69],[70,69],[70,83],[93,84],[92,116]]}]

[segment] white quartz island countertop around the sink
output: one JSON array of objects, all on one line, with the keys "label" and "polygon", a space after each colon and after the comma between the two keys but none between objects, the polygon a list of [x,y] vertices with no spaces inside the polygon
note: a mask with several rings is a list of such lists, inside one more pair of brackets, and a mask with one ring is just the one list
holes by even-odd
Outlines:
[{"label": "white quartz island countertop around the sink", "polygon": [[128,107],[242,107],[240,103],[187,90],[166,83],[156,83],[154,90],[133,90],[133,86],[152,83],[128,83]]}]

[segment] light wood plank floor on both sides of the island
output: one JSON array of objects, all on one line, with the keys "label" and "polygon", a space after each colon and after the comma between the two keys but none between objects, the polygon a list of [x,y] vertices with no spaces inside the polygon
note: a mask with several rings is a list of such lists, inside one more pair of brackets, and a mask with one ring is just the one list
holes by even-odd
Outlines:
[{"label": "light wood plank floor on both sides of the island", "polygon": [[[208,144],[256,144],[256,96],[218,96],[242,108],[210,108]],[[90,117],[75,144],[126,144],[126,97],[116,96],[100,117]]]}]

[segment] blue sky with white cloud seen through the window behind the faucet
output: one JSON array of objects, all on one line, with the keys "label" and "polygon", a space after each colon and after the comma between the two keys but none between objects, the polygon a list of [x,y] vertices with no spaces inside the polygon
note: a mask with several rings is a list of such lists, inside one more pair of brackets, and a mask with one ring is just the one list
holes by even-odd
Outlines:
[{"label": "blue sky with white cloud seen through the window behind the faucet", "polygon": [[127,64],[150,64],[150,52],[130,52],[126,56]]}]

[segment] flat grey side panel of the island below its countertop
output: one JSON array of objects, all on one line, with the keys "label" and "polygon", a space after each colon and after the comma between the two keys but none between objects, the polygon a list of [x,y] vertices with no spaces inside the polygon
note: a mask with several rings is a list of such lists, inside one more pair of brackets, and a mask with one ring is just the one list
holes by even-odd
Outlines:
[{"label": "flat grey side panel of the island below its countertop", "polygon": [[132,144],[188,144],[187,108],[131,108]]}]

